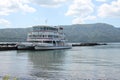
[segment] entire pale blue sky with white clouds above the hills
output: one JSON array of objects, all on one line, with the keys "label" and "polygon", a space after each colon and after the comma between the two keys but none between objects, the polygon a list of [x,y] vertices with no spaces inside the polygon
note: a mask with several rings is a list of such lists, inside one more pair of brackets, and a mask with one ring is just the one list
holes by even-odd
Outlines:
[{"label": "entire pale blue sky with white clouds above the hills", "polygon": [[120,0],[0,0],[0,28],[92,23],[120,27]]}]

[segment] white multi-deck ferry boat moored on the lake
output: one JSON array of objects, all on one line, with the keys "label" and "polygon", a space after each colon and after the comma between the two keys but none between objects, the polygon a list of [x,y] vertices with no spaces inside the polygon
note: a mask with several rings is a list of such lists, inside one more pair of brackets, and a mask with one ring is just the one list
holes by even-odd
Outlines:
[{"label": "white multi-deck ferry boat moored on the lake", "polygon": [[34,47],[35,50],[71,48],[71,45],[66,43],[67,41],[62,27],[33,26],[33,31],[28,33],[27,41],[30,45],[23,44],[24,46],[22,48]]}]

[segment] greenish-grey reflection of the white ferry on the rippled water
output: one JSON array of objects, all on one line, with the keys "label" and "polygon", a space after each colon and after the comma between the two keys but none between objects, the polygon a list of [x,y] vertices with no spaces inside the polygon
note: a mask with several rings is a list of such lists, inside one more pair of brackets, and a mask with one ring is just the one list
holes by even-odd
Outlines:
[{"label": "greenish-grey reflection of the white ferry on the rippled water", "polygon": [[[32,64],[30,75],[37,77],[55,77],[57,70],[62,71],[66,50],[29,51],[28,58]],[[61,65],[60,65],[61,64]]]}]

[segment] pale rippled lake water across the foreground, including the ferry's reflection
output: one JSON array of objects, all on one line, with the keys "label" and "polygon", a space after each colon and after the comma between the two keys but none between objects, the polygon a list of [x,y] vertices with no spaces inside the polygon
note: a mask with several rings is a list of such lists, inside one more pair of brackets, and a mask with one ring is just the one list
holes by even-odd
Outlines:
[{"label": "pale rippled lake water across the foreground, including the ferry's reflection", "polygon": [[120,80],[120,44],[51,51],[0,51],[0,77]]}]

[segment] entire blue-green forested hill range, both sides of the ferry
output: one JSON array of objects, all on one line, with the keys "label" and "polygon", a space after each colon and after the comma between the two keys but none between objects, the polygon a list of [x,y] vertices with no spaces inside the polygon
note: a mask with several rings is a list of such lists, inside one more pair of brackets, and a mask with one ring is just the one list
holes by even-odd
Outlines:
[{"label": "entire blue-green forested hill range, both sides of the ferry", "polygon": [[[62,25],[70,42],[120,42],[120,28],[105,23]],[[0,42],[26,41],[31,28],[0,29]]]}]

